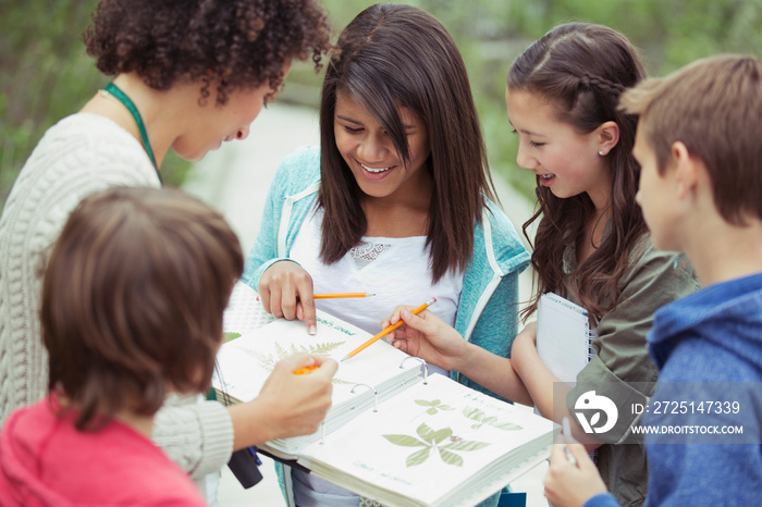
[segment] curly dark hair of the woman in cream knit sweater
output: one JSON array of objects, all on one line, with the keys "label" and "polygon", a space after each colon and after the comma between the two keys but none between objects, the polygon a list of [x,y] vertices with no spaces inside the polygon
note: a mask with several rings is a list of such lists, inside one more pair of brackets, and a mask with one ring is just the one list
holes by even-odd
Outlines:
[{"label": "curly dark hair of the woman in cream knit sweater", "polygon": [[135,72],[151,88],[198,82],[200,103],[283,82],[283,65],[310,55],[316,71],[330,27],[315,0],[100,0],[83,34],[107,75]]}]

